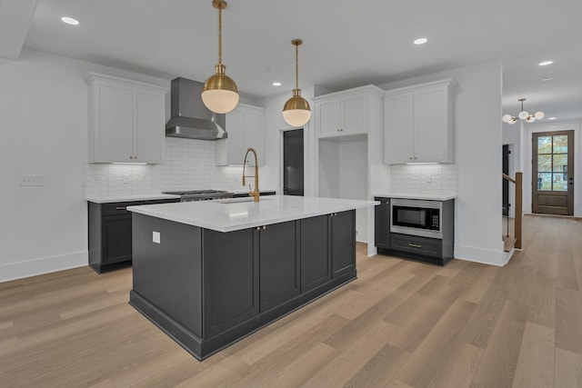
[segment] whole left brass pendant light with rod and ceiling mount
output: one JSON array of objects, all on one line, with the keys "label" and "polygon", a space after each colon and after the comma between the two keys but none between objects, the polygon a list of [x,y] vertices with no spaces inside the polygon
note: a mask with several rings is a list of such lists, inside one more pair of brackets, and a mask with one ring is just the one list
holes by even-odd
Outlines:
[{"label": "whole left brass pendant light with rod and ceiling mount", "polygon": [[238,104],[238,89],[235,81],[226,75],[226,66],[222,64],[222,10],[226,9],[226,1],[213,0],[212,5],[218,9],[218,64],[216,74],[204,84],[202,101],[212,112],[226,114]]}]

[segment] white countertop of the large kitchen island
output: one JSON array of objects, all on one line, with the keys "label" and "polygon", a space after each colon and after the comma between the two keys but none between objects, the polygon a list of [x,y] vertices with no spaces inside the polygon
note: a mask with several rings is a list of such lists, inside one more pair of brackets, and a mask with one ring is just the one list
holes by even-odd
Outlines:
[{"label": "white countertop of the large kitchen island", "polygon": [[240,202],[242,199],[248,198],[148,204],[129,206],[127,210],[218,232],[232,232],[380,204],[377,201],[293,195],[266,195],[258,203]]}]

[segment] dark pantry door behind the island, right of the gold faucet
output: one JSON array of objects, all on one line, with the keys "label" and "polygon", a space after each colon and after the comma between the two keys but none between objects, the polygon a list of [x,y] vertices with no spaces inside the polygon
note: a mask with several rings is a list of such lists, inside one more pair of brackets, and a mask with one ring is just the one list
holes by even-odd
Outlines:
[{"label": "dark pantry door behind the island, right of the gold faucet", "polygon": [[283,194],[303,195],[303,128],[283,133]]}]

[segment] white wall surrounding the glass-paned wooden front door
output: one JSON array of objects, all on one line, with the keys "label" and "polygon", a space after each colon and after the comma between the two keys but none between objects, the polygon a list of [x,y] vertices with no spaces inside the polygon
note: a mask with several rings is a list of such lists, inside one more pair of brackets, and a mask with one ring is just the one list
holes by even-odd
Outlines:
[{"label": "white wall surrounding the glass-paned wooden front door", "polygon": [[574,130],[574,215],[582,216],[582,164],[580,151],[582,150],[582,119],[572,121],[541,121],[534,124],[524,124],[522,139],[523,172],[524,172],[524,213],[531,213],[532,187],[532,134],[537,132],[569,131]]}]

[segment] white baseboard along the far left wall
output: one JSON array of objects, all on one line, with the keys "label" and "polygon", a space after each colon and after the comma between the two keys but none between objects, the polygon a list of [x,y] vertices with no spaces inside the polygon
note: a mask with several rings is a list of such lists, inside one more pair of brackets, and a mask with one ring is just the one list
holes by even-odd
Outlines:
[{"label": "white baseboard along the far left wall", "polygon": [[41,257],[25,262],[0,264],[0,283],[82,267],[88,265],[88,257],[87,251],[81,251],[73,254]]}]

